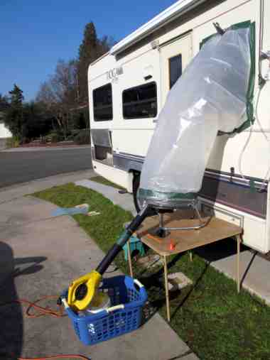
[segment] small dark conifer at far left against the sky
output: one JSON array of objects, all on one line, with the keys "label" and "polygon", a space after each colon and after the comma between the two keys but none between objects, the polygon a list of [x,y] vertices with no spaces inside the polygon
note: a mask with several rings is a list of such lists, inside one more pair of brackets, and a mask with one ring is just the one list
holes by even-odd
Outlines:
[{"label": "small dark conifer at far left against the sky", "polygon": [[9,94],[10,107],[6,112],[4,123],[13,136],[21,139],[23,136],[23,90],[14,84]]}]

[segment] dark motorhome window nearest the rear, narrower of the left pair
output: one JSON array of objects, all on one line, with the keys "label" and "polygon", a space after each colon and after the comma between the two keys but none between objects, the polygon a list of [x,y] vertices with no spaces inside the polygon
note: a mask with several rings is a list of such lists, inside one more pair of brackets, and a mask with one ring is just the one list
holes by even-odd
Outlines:
[{"label": "dark motorhome window nearest the rear, narrower of the left pair", "polygon": [[95,121],[112,120],[112,84],[93,90]]}]

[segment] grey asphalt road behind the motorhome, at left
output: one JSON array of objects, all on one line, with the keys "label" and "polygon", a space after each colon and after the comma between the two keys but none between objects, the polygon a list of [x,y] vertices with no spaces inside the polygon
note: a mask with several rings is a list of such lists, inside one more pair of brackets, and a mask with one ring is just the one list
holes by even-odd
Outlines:
[{"label": "grey asphalt road behind the motorhome, at left", "polygon": [[91,168],[90,147],[0,151],[0,187]]}]

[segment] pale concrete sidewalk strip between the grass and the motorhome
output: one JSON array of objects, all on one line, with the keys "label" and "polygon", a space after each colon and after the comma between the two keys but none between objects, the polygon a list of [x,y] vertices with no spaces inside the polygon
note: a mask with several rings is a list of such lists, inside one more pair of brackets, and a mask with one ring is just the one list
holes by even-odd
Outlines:
[{"label": "pale concrete sidewalk strip between the grass and the motorhome", "polygon": [[[97,192],[102,193],[105,197],[109,198],[114,204],[119,204],[126,210],[136,214],[133,205],[132,195],[124,194],[119,195],[119,192],[114,187],[99,184],[90,180],[80,180],[75,182],[76,185],[89,187]],[[229,278],[237,279],[236,268],[236,243],[234,244],[231,239],[227,246],[222,247],[212,244],[207,248],[202,247],[198,249],[200,256],[210,261],[211,265],[222,273],[225,273]],[[249,250],[243,250],[240,254],[240,276],[242,288],[249,290],[250,293],[256,294],[270,305],[270,261],[266,261],[256,253]]]}]

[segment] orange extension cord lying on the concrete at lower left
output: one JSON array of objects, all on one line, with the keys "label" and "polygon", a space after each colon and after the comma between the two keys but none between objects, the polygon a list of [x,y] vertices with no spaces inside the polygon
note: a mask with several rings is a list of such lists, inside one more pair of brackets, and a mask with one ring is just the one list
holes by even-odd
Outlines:
[{"label": "orange extension cord lying on the concrete at lower left", "polygon": [[[26,317],[31,317],[32,319],[35,319],[36,317],[41,317],[41,316],[52,316],[52,317],[64,317],[65,314],[63,312],[62,307],[60,307],[60,310],[51,310],[48,307],[43,307],[40,305],[37,305],[38,302],[41,302],[43,300],[46,299],[58,299],[59,296],[55,296],[55,295],[49,295],[49,296],[44,296],[41,299],[36,300],[35,302],[31,302],[25,299],[18,299],[18,300],[13,300],[10,302],[5,302],[4,304],[0,304],[0,306],[6,306],[6,305],[11,305],[13,303],[17,303],[17,304],[22,304],[22,305],[28,305],[27,309],[26,309]],[[58,305],[59,306],[59,305]],[[38,311],[38,313],[36,314],[31,314],[30,310],[31,309],[35,309]],[[12,354],[11,354],[12,356]],[[18,360],[48,360],[48,359],[81,359],[81,360],[90,360],[88,357],[83,356],[83,355],[78,355],[78,354],[67,354],[67,355],[53,355],[53,356],[45,356],[45,357],[36,357],[36,358],[23,358],[23,357],[18,357]]]}]

